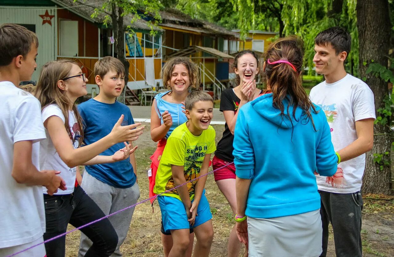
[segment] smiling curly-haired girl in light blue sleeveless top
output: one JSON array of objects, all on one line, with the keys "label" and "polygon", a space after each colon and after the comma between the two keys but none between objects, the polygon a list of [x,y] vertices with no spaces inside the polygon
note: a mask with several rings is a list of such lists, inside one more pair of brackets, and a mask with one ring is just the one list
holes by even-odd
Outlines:
[{"label": "smiling curly-haired girl in light blue sleeveless top", "polygon": [[[154,97],[151,109],[151,138],[158,142],[157,149],[151,156],[152,164],[148,173],[149,177],[149,197],[154,196],[153,187],[155,184],[156,172],[160,158],[163,154],[167,138],[179,125],[188,119],[184,114],[184,101],[190,88],[200,86],[200,74],[197,65],[186,57],[175,57],[169,59],[163,66],[161,77],[163,85],[169,89],[165,93],[159,93]],[[153,204],[154,199],[151,199]],[[173,241],[171,233],[165,233],[163,226],[161,229],[164,256],[167,257]],[[194,233],[190,231],[190,244],[186,256],[191,256],[193,250]]]}]

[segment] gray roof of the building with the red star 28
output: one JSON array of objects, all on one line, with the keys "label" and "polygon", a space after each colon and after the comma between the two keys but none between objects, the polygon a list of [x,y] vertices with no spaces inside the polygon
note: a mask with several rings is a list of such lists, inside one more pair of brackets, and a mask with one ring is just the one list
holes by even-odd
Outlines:
[{"label": "gray roof of the building with the red star 28", "polygon": [[[91,14],[94,12],[95,8],[100,8],[102,7],[102,0],[77,0],[74,2],[74,0],[51,0],[55,4],[58,4],[59,6],[62,7],[70,7],[67,8],[69,11],[75,13],[76,15],[79,15],[80,17],[83,17],[84,19],[90,20],[91,22],[95,23],[102,23],[104,21],[104,18],[106,15],[110,15],[110,13],[99,13],[97,17],[92,18]],[[151,30],[151,28],[148,26],[148,22],[143,19],[139,19],[134,21],[133,23],[130,23],[130,21],[133,19],[133,15],[125,15],[123,17],[124,25],[125,26],[130,26],[131,28],[137,29],[137,30]],[[111,20],[108,22],[108,26],[112,26]],[[154,27],[154,30],[157,31],[162,31],[161,28],[158,26]]]}]

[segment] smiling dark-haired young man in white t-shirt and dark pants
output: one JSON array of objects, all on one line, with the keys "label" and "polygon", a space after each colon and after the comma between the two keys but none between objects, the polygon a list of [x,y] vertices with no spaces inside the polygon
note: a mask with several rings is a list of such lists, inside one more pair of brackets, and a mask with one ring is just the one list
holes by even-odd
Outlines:
[{"label": "smiling dark-haired young man in white t-shirt and dark pants", "polygon": [[315,38],[313,61],[316,72],[324,74],[325,81],[312,88],[310,99],[325,112],[334,149],[340,156],[333,177],[316,176],[322,204],[320,256],[327,254],[329,222],[333,226],[336,256],[362,256],[361,183],[365,153],[374,143],[375,106],[368,85],[345,71],[350,45],[349,32],[339,27],[324,30]]}]

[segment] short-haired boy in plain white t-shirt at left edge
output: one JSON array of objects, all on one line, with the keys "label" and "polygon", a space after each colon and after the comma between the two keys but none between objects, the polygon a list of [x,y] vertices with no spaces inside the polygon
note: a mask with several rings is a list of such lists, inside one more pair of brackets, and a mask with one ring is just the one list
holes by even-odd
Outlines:
[{"label": "short-haired boy in plain white t-shirt at left edge", "polygon": [[[17,88],[37,67],[37,36],[17,24],[0,25],[0,256],[43,242],[48,194],[66,189],[58,171],[39,171],[39,142],[45,139],[41,106]],[[44,244],[18,256],[45,256]]]}]

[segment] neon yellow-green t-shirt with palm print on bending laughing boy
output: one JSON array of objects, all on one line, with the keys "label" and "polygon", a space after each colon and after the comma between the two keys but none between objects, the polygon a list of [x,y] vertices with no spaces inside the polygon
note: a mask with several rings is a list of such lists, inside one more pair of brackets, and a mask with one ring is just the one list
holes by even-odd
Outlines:
[{"label": "neon yellow-green t-shirt with palm print on bending laughing boy", "polygon": [[[153,189],[155,194],[160,194],[175,187],[171,164],[184,166],[185,179],[190,181],[200,176],[201,165],[205,155],[216,150],[215,130],[212,126],[203,130],[200,136],[194,136],[186,127],[187,122],[174,129],[167,140],[156,173],[156,184]],[[194,198],[196,183],[197,180],[187,184],[190,200]],[[172,196],[180,199],[176,189],[163,194],[163,196]]]}]

